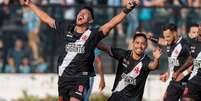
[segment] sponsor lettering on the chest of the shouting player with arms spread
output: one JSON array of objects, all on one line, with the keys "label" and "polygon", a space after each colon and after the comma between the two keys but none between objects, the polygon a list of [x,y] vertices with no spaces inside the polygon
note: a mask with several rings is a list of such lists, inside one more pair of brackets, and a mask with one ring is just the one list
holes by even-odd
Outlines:
[{"label": "sponsor lettering on the chest of the shouting player with arms spread", "polygon": [[84,53],[85,47],[82,44],[69,43],[65,46],[66,52]]}]

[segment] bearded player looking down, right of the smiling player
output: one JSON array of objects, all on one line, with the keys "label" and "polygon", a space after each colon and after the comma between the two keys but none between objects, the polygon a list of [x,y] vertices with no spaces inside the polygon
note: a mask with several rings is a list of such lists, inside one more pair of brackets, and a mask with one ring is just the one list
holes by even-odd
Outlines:
[{"label": "bearded player looking down, right of the smiling player", "polygon": [[[177,26],[167,24],[163,26],[163,37],[167,41],[168,65],[170,70],[171,81],[167,87],[164,101],[178,101],[183,94],[185,85],[188,81],[186,76],[181,81],[176,81],[177,75],[182,72],[184,67],[189,67],[190,64],[185,64],[191,58],[188,43],[177,32]],[[161,80],[166,81],[168,73],[161,75]]]}]

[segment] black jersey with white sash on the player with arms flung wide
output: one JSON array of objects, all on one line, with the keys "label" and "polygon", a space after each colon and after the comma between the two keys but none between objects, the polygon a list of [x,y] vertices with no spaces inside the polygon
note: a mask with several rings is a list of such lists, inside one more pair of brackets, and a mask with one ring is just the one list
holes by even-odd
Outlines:
[{"label": "black jersey with white sash on the player with arms flung wide", "polygon": [[99,28],[75,32],[75,25],[56,21],[57,35],[62,44],[58,59],[60,78],[94,76],[94,49],[104,38]]}]

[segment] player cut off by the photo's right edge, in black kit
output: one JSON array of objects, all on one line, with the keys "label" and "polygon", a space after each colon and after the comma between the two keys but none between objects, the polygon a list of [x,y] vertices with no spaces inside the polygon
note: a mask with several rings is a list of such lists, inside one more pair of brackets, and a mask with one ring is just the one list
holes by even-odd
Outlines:
[{"label": "player cut off by the photo's right edge, in black kit", "polygon": [[183,101],[201,101],[201,28],[197,38],[191,41],[191,55],[193,56],[193,72],[184,92]]}]

